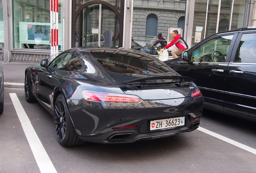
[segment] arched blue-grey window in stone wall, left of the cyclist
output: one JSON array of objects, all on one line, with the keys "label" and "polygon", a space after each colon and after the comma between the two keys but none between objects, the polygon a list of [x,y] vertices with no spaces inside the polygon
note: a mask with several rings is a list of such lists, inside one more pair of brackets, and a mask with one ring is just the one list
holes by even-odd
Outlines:
[{"label": "arched blue-grey window in stone wall, left of the cyclist", "polygon": [[157,16],[149,14],[146,23],[146,36],[157,36]]}]

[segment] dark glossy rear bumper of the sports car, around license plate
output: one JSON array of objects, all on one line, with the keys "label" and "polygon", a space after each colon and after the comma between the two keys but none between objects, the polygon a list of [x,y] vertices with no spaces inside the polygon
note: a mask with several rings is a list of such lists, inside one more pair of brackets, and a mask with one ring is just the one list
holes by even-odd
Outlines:
[{"label": "dark glossy rear bumper of the sports car, around license plate", "polygon": [[[68,100],[68,107],[76,133],[82,140],[96,143],[131,143],[168,137],[198,128],[203,99],[190,97],[173,106],[175,100],[143,101],[140,104]],[[174,117],[185,117],[185,125],[150,131],[151,121]],[[134,128],[113,129],[116,127]]]}]

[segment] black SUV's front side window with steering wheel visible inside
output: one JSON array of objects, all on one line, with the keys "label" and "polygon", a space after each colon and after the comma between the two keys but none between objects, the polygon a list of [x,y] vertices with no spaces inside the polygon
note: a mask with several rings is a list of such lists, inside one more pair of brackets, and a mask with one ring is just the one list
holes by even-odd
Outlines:
[{"label": "black SUV's front side window with steering wheel visible inside", "polygon": [[192,62],[225,62],[233,35],[213,38],[192,51]]}]

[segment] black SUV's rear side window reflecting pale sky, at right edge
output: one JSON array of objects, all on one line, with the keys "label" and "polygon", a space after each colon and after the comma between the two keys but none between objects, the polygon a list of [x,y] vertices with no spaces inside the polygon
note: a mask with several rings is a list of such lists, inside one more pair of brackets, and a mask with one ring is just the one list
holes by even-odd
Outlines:
[{"label": "black SUV's rear side window reflecting pale sky, at right edge", "polygon": [[242,35],[234,62],[256,63],[256,33]]}]

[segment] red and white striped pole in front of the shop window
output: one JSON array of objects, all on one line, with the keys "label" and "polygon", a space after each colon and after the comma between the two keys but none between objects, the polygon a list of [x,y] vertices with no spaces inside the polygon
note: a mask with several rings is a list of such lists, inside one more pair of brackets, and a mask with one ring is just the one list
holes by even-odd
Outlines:
[{"label": "red and white striped pole in front of the shop window", "polygon": [[51,59],[53,60],[59,53],[58,49],[58,0],[51,0],[50,4],[50,26],[51,26]]}]

